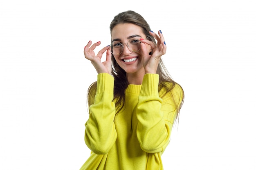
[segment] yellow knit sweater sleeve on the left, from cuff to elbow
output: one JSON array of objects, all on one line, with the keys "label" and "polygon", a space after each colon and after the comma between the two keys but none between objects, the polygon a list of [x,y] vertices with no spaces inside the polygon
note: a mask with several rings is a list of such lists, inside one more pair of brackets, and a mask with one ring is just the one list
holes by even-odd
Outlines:
[{"label": "yellow knit sweater sleeve on the left, from cuff to elbow", "polygon": [[89,107],[89,119],[85,123],[85,144],[98,155],[108,153],[117,139],[113,95],[114,78],[110,74],[98,74],[94,104]]}]

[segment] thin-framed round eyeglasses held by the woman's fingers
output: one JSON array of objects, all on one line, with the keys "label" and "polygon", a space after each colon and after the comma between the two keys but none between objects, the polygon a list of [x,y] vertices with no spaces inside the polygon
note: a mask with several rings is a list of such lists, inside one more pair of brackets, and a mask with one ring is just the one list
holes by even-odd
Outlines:
[{"label": "thin-framed round eyeglasses held by the woman's fingers", "polygon": [[[148,38],[150,38],[150,37],[146,37],[146,39],[148,39]],[[113,55],[120,55],[123,52],[124,44],[127,45],[128,49],[131,52],[138,52],[141,48],[141,41],[139,41],[139,39],[130,39],[127,43],[113,41],[110,44],[110,52]]]}]

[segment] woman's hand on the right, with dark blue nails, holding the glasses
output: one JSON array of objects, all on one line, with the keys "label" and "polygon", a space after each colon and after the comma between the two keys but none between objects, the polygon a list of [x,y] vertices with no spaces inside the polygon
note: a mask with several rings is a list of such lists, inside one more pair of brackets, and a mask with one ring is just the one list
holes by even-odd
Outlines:
[{"label": "woman's hand on the right, with dark blue nails, holding the glasses", "polygon": [[[146,39],[141,39],[141,52],[143,57],[144,69],[145,73],[155,74],[157,71],[157,67],[161,56],[166,53],[166,45],[164,41],[164,36],[161,31],[158,31],[158,35],[153,32],[149,32],[150,35],[155,37],[157,40],[157,45],[153,43],[153,41],[149,41]],[[152,52],[149,54],[146,48],[146,44],[150,45]]]}]

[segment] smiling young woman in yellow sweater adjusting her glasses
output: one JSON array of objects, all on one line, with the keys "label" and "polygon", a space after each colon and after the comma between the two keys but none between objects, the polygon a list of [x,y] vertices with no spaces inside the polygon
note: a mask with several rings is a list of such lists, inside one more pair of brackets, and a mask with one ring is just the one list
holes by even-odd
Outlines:
[{"label": "smiling young woman in yellow sweater adjusting her glasses", "polygon": [[88,89],[85,123],[92,152],[81,170],[162,170],[161,155],[184,99],[161,59],[164,36],[134,11],[116,15],[110,31],[110,46],[97,55],[100,42],[89,41],[84,49],[98,76]]}]

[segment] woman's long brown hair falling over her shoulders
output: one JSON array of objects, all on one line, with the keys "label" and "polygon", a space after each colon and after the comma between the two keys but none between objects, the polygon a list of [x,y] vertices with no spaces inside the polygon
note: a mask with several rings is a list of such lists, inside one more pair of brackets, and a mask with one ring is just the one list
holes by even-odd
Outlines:
[{"label": "woman's long brown hair falling over her shoulders", "polygon": [[[155,38],[149,34],[150,26],[142,17],[140,14],[134,12],[134,11],[125,11],[121,12],[118,15],[114,17],[112,22],[110,23],[110,33],[112,32],[112,29],[117,24],[123,24],[123,23],[132,23],[140,26],[146,35],[146,37],[150,37],[150,39],[156,44]],[[162,59],[159,61],[159,65],[157,67],[157,74],[159,74],[159,87],[158,90],[160,91],[162,88],[165,88],[166,93],[160,96],[161,98],[164,97],[167,93],[170,93],[171,90],[175,87],[175,85],[178,85],[173,79],[171,78],[170,74],[168,73],[168,70],[164,66],[164,63]],[[115,60],[115,57],[112,54],[112,76],[114,77],[114,100],[116,105],[116,113],[118,113],[123,107],[124,107],[124,95],[125,95],[125,89],[128,87],[128,80],[126,77],[126,72],[117,64],[117,61]],[[169,82],[166,85],[164,82]],[[97,82],[92,83],[92,85],[88,89],[88,96],[87,98],[92,98],[90,95],[95,95],[97,88]],[[184,100],[184,92],[182,90],[182,100],[180,103],[177,103],[176,109],[177,109],[177,117],[179,115],[180,108],[182,107],[183,100]],[[93,96],[94,97],[94,96]],[[93,104],[94,101],[88,100],[88,105],[90,106]]]}]

